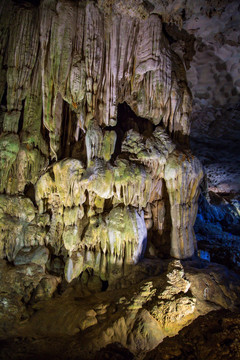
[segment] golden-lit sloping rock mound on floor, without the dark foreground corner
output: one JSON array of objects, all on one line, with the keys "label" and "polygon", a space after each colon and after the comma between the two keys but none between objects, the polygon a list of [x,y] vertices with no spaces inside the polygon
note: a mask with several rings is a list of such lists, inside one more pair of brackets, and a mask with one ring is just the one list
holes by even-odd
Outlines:
[{"label": "golden-lit sloping rock mound on floor, without the dark foreground corner", "polygon": [[[6,326],[1,357],[10,354],[20,359],[24,353],[28,359],[34,353],[37,358],[89,359],[115,342],[141,357],[197,316],[220,308],[235,310],[239,305],[239,278],[220,265],[182,265],[179,260],[168,265],[158,260],[158,265],[166,266],[167,271],[151,277],[157,263],[143,261],[140,268],[146,278],[140,282],[139,269],[134,267],[125,289],[84,298],[83,284],[75,282],[62,296],[37,302],[28,322],[14,329]],[[11,349],[9,332],[16,339]]]}]

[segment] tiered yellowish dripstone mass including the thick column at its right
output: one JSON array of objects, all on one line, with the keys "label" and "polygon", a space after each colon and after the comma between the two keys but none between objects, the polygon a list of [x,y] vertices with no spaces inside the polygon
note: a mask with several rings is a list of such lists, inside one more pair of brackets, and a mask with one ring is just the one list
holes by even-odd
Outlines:
[{"label": "tiered yellowish dripstone mass including the thick column at its right", "polygon": [[[170,201],[171,255],[187,258],[195,251],[193,225],[203,175],[198,160],[176,150],[165,130],[156,127],[147,139],[128,131],[122,142],[128,159],[118,156],[111,163],[103,150],[109,133],[103,135],[94,125],[86,134],[88,166],[76,159],[61,160],[36,184],[40,213],[52,213],[47,241],[59,249],[62,239],[69,253],[69,281],[90,266],[89,258],[101,274],[108,261],[120,266],[140,259],[151,228],[151,203],[163,198],[163,180]],[[116,136],[110,139],[108,148],[114,152]]]}]

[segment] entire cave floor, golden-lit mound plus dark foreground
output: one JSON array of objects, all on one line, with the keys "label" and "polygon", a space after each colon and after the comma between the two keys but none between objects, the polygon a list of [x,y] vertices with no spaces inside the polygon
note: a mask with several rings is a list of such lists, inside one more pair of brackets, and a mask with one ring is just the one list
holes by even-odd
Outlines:
[{"label": "entire cave floor, golden-lit mound plus dark foreground", "polygon": [[2,317],[0,358],[240,359],[239,275],[200,259],[145,259],[128,280],[86,296],[75,281],[19,321]]}]

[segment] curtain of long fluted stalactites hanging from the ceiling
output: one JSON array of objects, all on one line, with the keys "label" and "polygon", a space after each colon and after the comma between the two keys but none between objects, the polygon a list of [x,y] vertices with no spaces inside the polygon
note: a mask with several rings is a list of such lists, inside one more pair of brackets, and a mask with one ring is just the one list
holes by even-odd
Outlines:
[{"label": "curtain of long fluted stalactites hanging from the ceiling", "polygon": [[7,65],[0,82],[0,97],[6,83],[8,89],[4,132],[18,132],[24,101],[31,98],[43,107],[52,157],[61,145],[64,102],[76,114],[76,139],[93,118],[116,125],[123,101],[154,124],[162,120],[171,133],[189,133],[191,97],[185,79],[176,77],[179,65],[158,15],[140,20],[112,12],[106,21],[94,2],[66,0],[11,11],[5,5],[1,14],[7,49],[6,59],[0,57]]}]

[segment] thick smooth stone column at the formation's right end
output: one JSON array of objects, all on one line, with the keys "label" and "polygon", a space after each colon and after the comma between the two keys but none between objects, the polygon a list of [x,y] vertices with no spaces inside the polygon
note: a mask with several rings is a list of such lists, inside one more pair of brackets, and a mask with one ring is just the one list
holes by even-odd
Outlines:
[{"label": "thick smooth stone column at the formation's right end", "polygon": [[165,166],[164,178],[171,205],[171,255],[179,259],[189,258],[196,250],[193,225],[203,168],[191,154],[175,151]]}]

